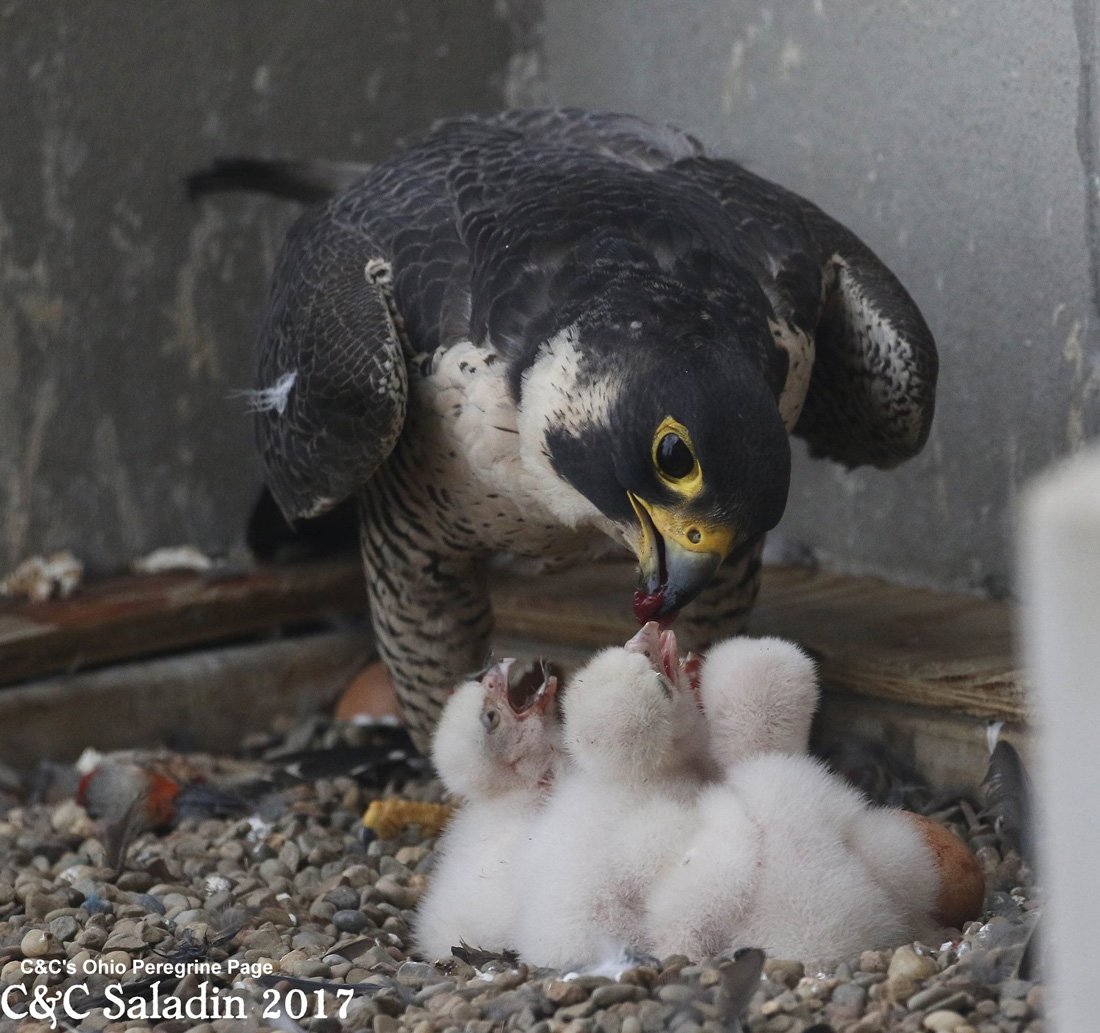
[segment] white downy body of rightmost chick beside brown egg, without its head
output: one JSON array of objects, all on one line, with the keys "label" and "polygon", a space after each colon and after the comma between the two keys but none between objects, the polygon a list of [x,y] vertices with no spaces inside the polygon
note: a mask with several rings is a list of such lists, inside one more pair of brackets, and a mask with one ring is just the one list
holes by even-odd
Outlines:
[{"label": "white downy body of rightmost chick beside brown egg, without its head", "polygon": [[758,946],[825,963],[934,926],[938,875],[919,831],[810,757],[773,752],[734,766],[703,792],[696,821],[650,899],[662,956]]}]

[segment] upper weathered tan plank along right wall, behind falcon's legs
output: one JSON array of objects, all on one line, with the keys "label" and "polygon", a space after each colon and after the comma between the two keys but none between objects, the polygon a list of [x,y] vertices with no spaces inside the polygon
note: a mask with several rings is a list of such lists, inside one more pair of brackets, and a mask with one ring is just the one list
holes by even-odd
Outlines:
[{"label": "upper weathered tan plank along right wall, behind falcon's legs", "polygon": [[[600,564],[540,578],[502,578],[494,592],[502,634],[546,642],[623,641],[634,574]],[[1004,603],[930,592],[873,578],[769,567],[754,635],[801,642],[831,688],[975,717],[1023,722],[1027,700]]]}]

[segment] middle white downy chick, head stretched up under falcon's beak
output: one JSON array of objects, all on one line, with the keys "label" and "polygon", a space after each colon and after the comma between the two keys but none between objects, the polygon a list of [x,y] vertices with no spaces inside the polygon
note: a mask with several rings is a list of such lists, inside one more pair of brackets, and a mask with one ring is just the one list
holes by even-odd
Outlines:
[{"label": "middle white downy chick, head stretched up under falcon's beak", "polygon": [[564,694],[571,763],[517,858],[538,871],[516,948],[535,965],[585,966],[648,949],[649,888],[691,829],[698,779],[678,746],[679,694],[645,650],[597,653]]}]

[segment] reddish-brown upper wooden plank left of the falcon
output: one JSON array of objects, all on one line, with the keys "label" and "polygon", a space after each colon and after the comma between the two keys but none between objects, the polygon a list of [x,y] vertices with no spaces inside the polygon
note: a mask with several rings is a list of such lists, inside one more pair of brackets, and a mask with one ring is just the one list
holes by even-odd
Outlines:
[{"label": "reddish-brown upper wooden plank left of the falcon", "polygon": [[239,639],[350,612],[355,560],[220,574],[120,578],[66,600],[0,604],[0,684]]}]

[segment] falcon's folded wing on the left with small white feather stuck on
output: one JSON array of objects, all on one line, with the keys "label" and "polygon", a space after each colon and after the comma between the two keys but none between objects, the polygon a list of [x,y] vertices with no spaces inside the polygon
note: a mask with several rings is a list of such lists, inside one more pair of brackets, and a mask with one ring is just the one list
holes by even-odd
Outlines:
[{"label": "falcon's folded wing on the left with small white feather stuck on", "polygon": [[307,210],[283,244],[260,332],[256,438],[288,519],[364,484],[405,421],[408,374],[391,266],[332,205]]}]

